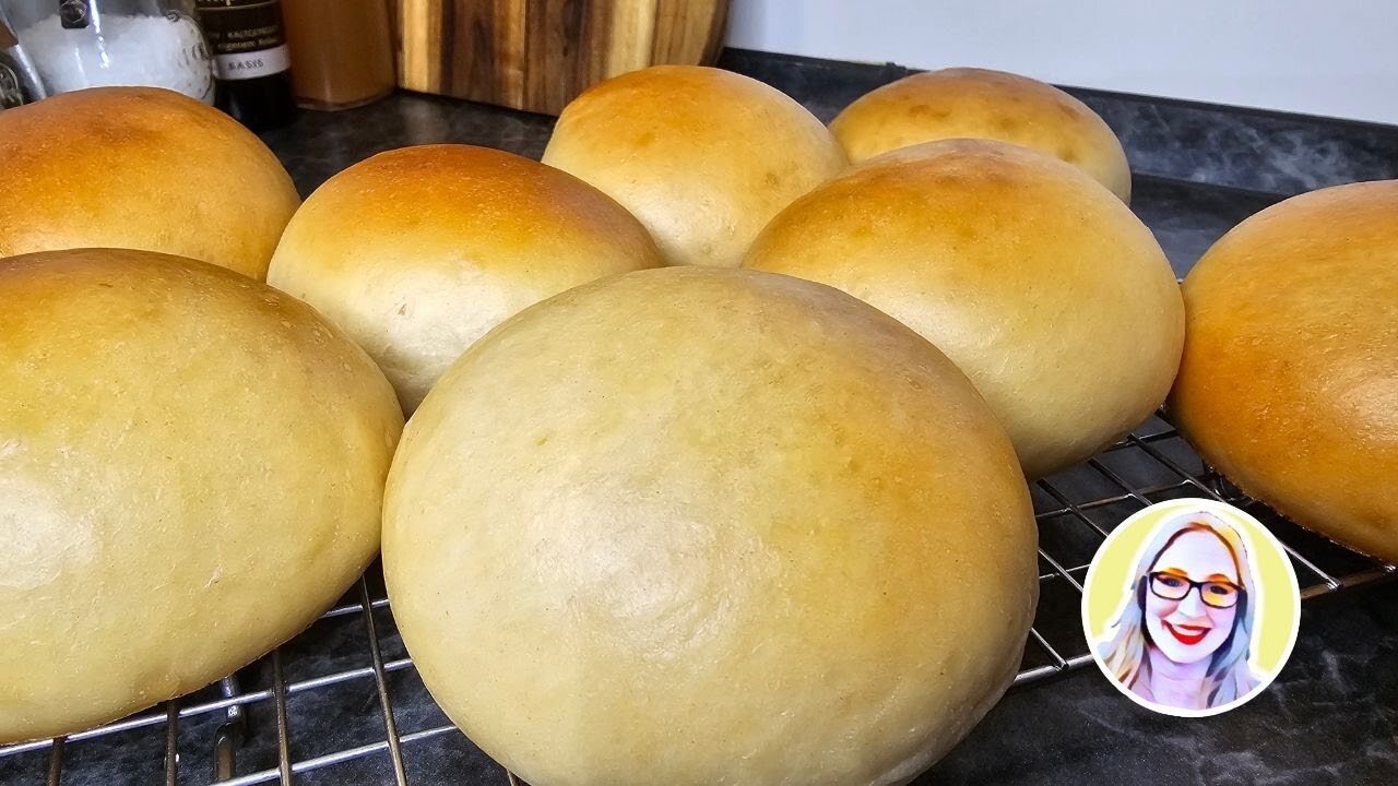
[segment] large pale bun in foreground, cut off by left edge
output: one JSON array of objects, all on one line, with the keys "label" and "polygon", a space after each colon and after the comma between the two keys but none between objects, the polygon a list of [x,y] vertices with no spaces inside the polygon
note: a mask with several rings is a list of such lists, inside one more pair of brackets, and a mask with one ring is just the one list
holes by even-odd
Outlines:
[{"label": "large pale bun in foreground, cut off by left edge", "polygon": [[0,260],[0,743],[201,688],[379,545],[403,413],[310,306],[194,260]]}]

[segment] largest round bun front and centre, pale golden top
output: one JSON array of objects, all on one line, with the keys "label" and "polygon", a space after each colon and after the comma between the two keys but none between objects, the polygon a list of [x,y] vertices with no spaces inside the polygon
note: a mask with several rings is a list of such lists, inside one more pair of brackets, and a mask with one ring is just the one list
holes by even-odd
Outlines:
[{"label": "largest round bun front and centre, pale golden top", "polygon": [[530,783],[906,783],[1009,685],[1037,597],[1026,485],[966,378],[780,276],[526,310],[389,478],[408,652]]}]

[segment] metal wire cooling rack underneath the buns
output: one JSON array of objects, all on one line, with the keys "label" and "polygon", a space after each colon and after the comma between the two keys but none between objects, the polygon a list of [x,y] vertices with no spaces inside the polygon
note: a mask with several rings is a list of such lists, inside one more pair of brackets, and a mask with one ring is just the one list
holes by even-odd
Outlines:
[{"label": "metal wire cooling rack underneath the buns", "polygon": [[[1113,527],[1155,502],[1202,496],[1248,509],[1285,544],[1302,599],[1395,575],[1247,499],[1160,418],[1032,491],[1040,600],[1016,687],[1092,662],[1079,611],[1088,564]],[[520,783],[432,702],[376,568],[309,631],[217,685],[101,729],[0,748],[0,783],[447,782]]]}]

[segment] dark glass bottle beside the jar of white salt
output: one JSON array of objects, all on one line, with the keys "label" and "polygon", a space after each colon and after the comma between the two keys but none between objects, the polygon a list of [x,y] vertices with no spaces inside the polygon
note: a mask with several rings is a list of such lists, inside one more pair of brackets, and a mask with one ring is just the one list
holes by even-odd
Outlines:
[{"label": "dark glass bottle beside the jar of white salt", "polygon": [[214,56],[214,103],[254,131],[296,116],[278,0],[194,0]]}]

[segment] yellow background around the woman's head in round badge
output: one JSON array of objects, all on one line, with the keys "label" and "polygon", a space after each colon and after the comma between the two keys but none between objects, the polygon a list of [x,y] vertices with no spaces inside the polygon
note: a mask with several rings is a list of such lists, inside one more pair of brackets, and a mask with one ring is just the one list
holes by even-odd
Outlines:
[{"label": "yellow background around the woman's head in round badge", "polygon": [[1088,569],[1083,615],[1088,622],[1089,645],[1096,649],[1107,635],[1107,628],[1120,617],[1132,594],[1137,564],[1144,557],[1151,536],[1166,519],[1181,513],[1206,510],[1223,519],[1243,536],[1253,582],[1257,585],[1257,621],[1254,642],[1257,652],[1251,663],[1258,671],[1272,676],[1281,670],[1296,642],[1300,621],[1300,592],[1296,572],[1286,552],[1257,519],[1211,499],[1172,499],[1141,510],[1111,531],[1097,550]]}]

